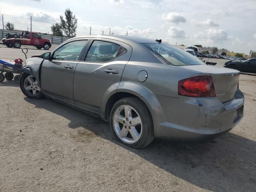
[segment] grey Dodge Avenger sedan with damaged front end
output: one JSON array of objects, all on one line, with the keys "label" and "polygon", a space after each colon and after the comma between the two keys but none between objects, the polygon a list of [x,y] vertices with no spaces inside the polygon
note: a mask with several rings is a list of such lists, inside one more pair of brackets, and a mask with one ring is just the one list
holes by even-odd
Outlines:
[{"label": "grey Dodge Avenger sedan with damaged front end", "polygon": [[154,138],[209,140],[243,117],[239,71],[208,66],[161,40],[75,37],[26,60],[30,98],[52,98],[110,123],[133,148]]}]

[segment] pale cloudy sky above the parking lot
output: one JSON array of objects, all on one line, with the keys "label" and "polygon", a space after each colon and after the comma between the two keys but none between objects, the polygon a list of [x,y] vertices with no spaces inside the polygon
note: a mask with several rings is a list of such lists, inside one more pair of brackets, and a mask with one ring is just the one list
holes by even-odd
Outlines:
[{"label": "pale cloudy sky above the parking lot", "polygon": [[[66,8],[78,18],[77,36],[140,36],[170,44],[256,50],[256,0],[0,0],[4,23],[18,30],[51,33]],[[2,23],[2,17],[0,17]],[[2,25],[0,25],[2,28]]]}]

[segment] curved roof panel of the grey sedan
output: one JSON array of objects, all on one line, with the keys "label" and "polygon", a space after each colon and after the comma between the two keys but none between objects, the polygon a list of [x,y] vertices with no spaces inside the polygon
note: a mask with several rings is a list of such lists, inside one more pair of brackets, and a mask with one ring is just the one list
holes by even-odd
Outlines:
[{"label": "curved roof panel of the grey sedan", "polygon": [[[126,36],[126,35],[90,35],[90,36],[78,36],[72,39],[76,39],[76,38],[109,38],[114,40],[132,41],[132,42],[138,42],[138,43],[158,43],[156,42],[156,40],[153,40],[153,39],[136,37],[136,36]],[[162,42],[162,43],[168,44],[166,42]]]}]

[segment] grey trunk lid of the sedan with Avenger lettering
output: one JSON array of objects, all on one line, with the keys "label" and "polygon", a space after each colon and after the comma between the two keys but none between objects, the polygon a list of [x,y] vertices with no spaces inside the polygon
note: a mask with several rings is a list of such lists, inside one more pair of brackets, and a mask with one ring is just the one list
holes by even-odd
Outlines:
[{"label": "grey trunk lid of the sedan with Avenger lettering", "polygon": [[200,76],[200,73],[208,73],[212,76],[216,97],[220,102],[228,102],[234,98],[240,74],[238,70],[208,65],[187,65],[181,67],[195,70],[197,76]]}]

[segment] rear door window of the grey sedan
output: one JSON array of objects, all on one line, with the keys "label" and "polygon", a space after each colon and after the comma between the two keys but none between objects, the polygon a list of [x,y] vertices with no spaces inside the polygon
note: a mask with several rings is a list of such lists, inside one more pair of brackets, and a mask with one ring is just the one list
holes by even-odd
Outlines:
[{"label": "rear door window of the grey sedan", "polygon": [[115,43],[95,40],[86,55],[85,61],[87,62],[108,62],[127,50]]}]

